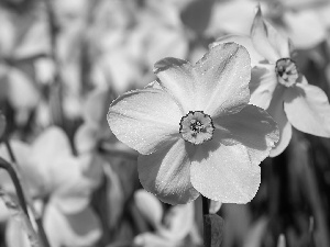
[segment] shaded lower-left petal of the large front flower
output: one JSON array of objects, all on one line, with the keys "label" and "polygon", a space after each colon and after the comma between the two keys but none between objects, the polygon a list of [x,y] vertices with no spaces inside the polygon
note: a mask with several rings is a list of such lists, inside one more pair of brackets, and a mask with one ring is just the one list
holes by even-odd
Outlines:
[{"label": "shaded lower-left petal of the large front flower", "polygon": [[187,203],[199,195],[190,183],[189,167],[186,144],[182,138],[154,154],[140,155],[138,159],[139,178],[144,189],[169,204]]}]

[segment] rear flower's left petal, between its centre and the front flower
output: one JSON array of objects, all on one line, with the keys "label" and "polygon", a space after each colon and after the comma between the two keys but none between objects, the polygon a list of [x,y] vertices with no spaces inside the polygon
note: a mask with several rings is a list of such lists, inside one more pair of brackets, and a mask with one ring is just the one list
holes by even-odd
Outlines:
[{"label": "rear flower's left petal, between its centre and the front flower", "polygon": [[267,109],[277,86],[275,65],[260,65],[252,69],[250,103],[262,109]]}]

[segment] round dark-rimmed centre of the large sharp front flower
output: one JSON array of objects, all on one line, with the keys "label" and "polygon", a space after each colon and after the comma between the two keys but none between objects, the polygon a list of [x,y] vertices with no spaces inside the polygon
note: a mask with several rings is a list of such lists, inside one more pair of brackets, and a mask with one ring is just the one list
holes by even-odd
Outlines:
[{"label": "round dark-rimmed centre of the large sharp front flower", "polygon": [[211,116],[202,111],[191,112],[183,116],[179,132],[183,138],[194,145],[210,141],[213,136],[215,126]]}]

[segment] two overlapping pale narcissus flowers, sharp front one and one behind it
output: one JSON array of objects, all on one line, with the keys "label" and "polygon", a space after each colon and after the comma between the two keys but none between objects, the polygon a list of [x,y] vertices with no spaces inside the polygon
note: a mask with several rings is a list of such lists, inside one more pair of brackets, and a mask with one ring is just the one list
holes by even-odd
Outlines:
[{"label": "two overlapping pale narcissus flowers, sharp front one and one behind it", "polygon": [[[165,58],[154,71],[157,81],[112,102],[108,122],[141,154],[140,181],[164,202],[187,203],[201,193],[246,203],[260,184],[258,164],[287,147],[292,126],[330,137],[328,98],[299,75],[289,40],[260,7],[250,36],[224,36],[196,65]],[[262,109],[278,124],[279,142]]]}]

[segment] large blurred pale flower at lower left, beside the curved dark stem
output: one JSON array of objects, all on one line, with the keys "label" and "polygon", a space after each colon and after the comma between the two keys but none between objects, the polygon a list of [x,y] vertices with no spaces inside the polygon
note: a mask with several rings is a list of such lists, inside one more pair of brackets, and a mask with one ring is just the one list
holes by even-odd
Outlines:
[{"label": "large blurred pale flower at lower left, beside the curved dark stem", "polygon": [[[28,184],[25,190],[44,201],[43,223],[51,245],[96,243],[101,229],[89,202],[101,181],[96,171],[100,164],[92,157],[74,157],[65,133],[57,127],[47,128],[32,145],[13,141],[12,148]],[[8,159],[3,146],[0,154]]]}]

